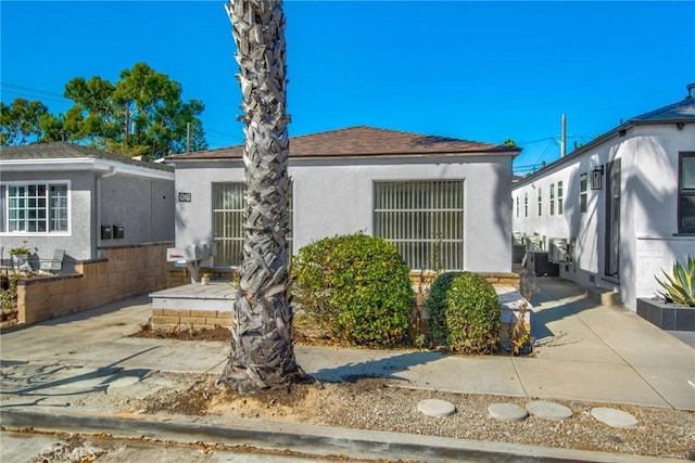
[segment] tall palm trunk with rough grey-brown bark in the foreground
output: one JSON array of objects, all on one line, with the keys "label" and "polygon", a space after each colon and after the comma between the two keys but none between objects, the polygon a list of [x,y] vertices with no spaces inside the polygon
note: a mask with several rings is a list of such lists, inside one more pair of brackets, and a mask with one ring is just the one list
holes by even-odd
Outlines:
[{"label": "tall palm trunk with rough grey-brown bark in the foreground", "polygon": [[285,13],[278,0],[230,0],[225,8],[240,67],[247,204],[231,355],[219,381],[240,393],[253,393],[302,376],[292,345],[287,245]]}]

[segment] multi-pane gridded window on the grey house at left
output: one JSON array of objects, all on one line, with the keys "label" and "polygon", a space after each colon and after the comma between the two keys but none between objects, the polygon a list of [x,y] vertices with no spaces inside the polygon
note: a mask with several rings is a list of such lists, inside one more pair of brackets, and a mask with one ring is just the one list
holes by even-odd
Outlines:
[{"label": "multi-pane gridded window on the grey house at left", "polygon": [[3,188],[7,218],[2,231],[53,233],[68,230],[66,184],[10,184]]}]

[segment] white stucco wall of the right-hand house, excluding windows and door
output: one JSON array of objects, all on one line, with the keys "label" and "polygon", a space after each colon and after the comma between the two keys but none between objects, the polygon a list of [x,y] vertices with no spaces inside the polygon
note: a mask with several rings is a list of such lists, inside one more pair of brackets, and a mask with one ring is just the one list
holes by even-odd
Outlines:
[{"label": "white stucco wall of the right-hand house, excluding windows and door", "polygon": [[[670,271],[675,258],[695,255],[695,237],[673,236],[678,232],[678,156],[683,151],[695,151],[692,125],[680,130],[675,125],[640,125],[629,128],[624,137],[616,133],[578,155],[570,154],[514,187],[513,229],[574,241],[574,261],[560,266],[560,276],[618,292],[623,304],[635,310],[636,297],[652,295],[656,288],[655,269]],[[619,284],[604,278],[606,176],[598,191],[591,190],[590,176],[587,210],[579,211],[580,173],[614,159],[621,162]],[[565,184],[565,213],[548,216],[548,187],[557,185],[558,180]],[[541,217],[536,214],[538,188],[543,189]],[[529,194],[528,218],[523,217],[525,193]]]}]

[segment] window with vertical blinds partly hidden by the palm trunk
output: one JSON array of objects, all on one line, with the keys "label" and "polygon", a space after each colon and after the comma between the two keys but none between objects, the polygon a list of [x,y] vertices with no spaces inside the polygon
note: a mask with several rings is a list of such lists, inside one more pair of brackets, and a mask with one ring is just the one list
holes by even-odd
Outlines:
[{"label": "window with vertical blinds partly hidden by the palm trunk", "polygon": [[[292,187],[290,185],[290,192]],[[243,211],[245,183],[213,183],[213,241],[215,267],[239,267],[243,247]],[[292,224],[292,195],[290,193],[290,227]],[[292,232],[287,235],[292,254]]]}]

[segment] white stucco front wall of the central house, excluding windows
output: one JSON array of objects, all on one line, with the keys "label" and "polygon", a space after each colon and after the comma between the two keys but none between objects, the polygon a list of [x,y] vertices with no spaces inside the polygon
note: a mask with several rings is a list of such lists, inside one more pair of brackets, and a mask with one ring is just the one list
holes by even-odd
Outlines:
[{"label": "white stucco front wall of the central house, excluding windows", "polygon": [[[291,159],[294,249],[321,237],[374,229],[374,182],[465,181],[466,270],[511,270],[509,156],[427,156]],[[176,246],[212,241],[212,182],[243,181],[241,160],[188,160],[176,165],[176,191],[191,193],[176,204]]]}]

